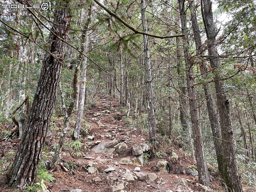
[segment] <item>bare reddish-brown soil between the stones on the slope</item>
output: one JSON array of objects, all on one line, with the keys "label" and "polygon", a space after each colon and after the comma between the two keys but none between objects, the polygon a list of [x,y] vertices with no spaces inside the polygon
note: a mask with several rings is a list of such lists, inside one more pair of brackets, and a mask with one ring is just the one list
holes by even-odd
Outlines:
[{"label": "bare reddish-brown soil between the stones on the slope", "polygon": [[[97,95],[98,99],[96,100],[97,105],[91,106],[89,111],[84,112],[84,119],[87,123],[90,124],[91,128],[88,128],[89,135],[94,135],[94,141],[101,141],[101,142],[108,142],[113,138],[105,137],[107,134],[113,134],[114,139],[117,139],[121,142],[127,141],[128,144],[128,150],[125,157],[127,158],[134,158],[134,156],[131,154],[131,147],[133,145],[137,145],[140,143],[143,143],[148,140],[147,135],[142,135],[142,132],[140,130],[133,130],[128,129],[126,127],[126,123],[124,122],[123,118],[119,118],[119,116],[122,117],[121,113],[118,113],[118,107],[112,107],[110,108],[110,101],[108,100],[108,97],[105,95]],[[116,106],[118,103],[115,103]],[[112,102],[112,106],[114,103]],[[114,110],[113,110],[114,108]],[[112,110],[111,110],[112,109]],[[101,112],[103,110],[110,110],[111,113],[109,115],[103,115],[101,117],[95,117],[93,116],[96,112]],[[75,114],[74,114],[75,117]],[[113,118],[112,118],[113,117]],[[97,120],[95,120],[95,118]],[[120,119],[120,121],[118,120]],[[97,125],[97,121],[100,120],[103,124],[105,124],[107,127],[99,127]],[[72,124],[73,123],[73,124]],[[46,148],[49,149],[49,151],[54,151],[53,144],[58,143],[57,136],[60,135],[61,130],[58,129],[62,127],[63,122],[60,120],[59,122],[54,122],[55,126],[57,126],[55,129],[52,127],[49,129],[49,134],[46,141]],[[74,121],[70,122],[69,130],[73,130],[74,128]],[[122,129],[123,131],[119,132],[118,129]],[[128,131],[128,135],[125,135],[123,133]],[[117,134],[118,133],[118,134]],[[102,137],[104,135],[104,137]],[[55,178],[55,182],[49,182],[47,183],[48,190],[50,192],[64,192],[66,190],[71,189],[81,189],[84,192],[108,192],[112,191],[112,187],[114,185],[117,185],[121,182],[123,182],[122,176],[126,172],[133,172],[134,168],[136,167],[133,164],[130,165],[121,165],[118,163],[119,159],[124,158],[117,157],[115,155],[111,156],[110,154],[96,154],[93,151],[91,151],[89,148],[89,141],[86,140],[86,135],[81,135],[82,140],[82,149],[80,150],[83,157],[75,157],[72,156],[73,150],[70,148],[63,148],[62,150],[62,159],[60,160],[60,163],[58,164],[57,171],[49,171],[49,174],[52,174]],[[2,141],[0,142],[0,159],[2,159],[3,156],[5,156],[9,151],[16,151],[18,147],[20,139],[13,139],[10,141]],[[68,137],[66,139],[66,142],[71,142],[71,137]],[[161,143],[161,142],[160,142]],[[161,147],[162,143],[159,145]],[[126,188],[124,191],[129,192],[153,192],[153,191],[163,191],[166,190],[172,190],[174,192],[194,192],[194,191],[204,191],[202,187],[198,186],[198,178],[193,177],[191,175],[183,175],[184,170],[190,165],[193,165],[193,159],[191,157],[188,157],[185,155],[183,151],[180,152],[179,150],[180,144],[174,144],[174,143],[166,143],[166,149],[169,148],[169,150],[165,150],[165,153],[167,156],[164,156],[163,158],[156,158],[153,156],[151,152],[151,157],[153,158],[149,159],[149,164],[147,166],[140,167],[140,172],[144,173],[155,173],[158,176],[158,179],[154,182],[147,182],[147,181],[140,181],[135,180],[132,182],[126,182]],[[51,159],[51,155],[49,154],[49,151],[44,151],[42,154],[42,158],[44,159]],[[175,152],[178,155],[177,160],[170,159],[170,155],[172,152]],[[85,159],[85,156],[90,156],[94,159],[89,160]],[[100,157],[100,158],[99,158]],[[98,158],[98,159],[96,159]],[[6,162],[6,166],[10,164],[10,162],[13,161],[13,157]],[[46,160],[46,164],[47,161]],[[170,163],[170,174],[160,174],[159,172],[154,170],[154,166],[156,163],[160,160],[166,160]],[[88,174],[88,172],[85,170],[84,166],[86,165],[86,162],[92,161],[95,162],[97,167],[97,172],[95,174]],[[68,171],[64,170],[64,166]],[[114,167],[116,170],[112,171],[108,174],[104,173],[103,170],[108,167]],[[99,177],[102,181],[100,182],[94,182],[93,178]],[[117,178],[117,181],[111,183],[110,178]],[[183,185],[181,178],[185,178],[189,180],[188,187]],[[4,175],[0,177],[0,192],[11,192],[12,189],[6,187],[4,185]],[[219,179],[217,174],[211,174],[210,175],[211,185],[212,188],[215,191],[223,190],[223,187],[219,185]],[[37,181],[36,181],[37,182]],[[21,190],[22,191],[22,190]]]}]

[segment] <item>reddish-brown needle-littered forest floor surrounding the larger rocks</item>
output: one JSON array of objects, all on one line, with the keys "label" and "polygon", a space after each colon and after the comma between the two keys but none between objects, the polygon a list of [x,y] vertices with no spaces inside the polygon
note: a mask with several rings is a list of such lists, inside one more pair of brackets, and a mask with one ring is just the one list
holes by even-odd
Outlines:
[{"label": "reddish-brown needle-littered forest floor surrounding the larger rocks", "polygon": [[[113,104],[114,103],[112,102],[112,106]],[[164,140],[159,142],[159,147],[161,148],[161,151],[165,151],[166,155],[163,155],[163,153],[157,154],[156,151],[149,151],[150,158],[144,157],[144,166],[139,166],[139,172],[145,174],[154,173],[157,176],[156,180],[139,180],[139,178],[136,179],[135,176],[134,181],[133,179],[128,181],[127,178],[125,178],[125,174],[130,173],[134,178],[133,171],[135,167],[138,166],[134,164],[120,164],[119,160],[123,158],[133,159],[134,155],[131,154],[132,146],[146,142],[148,137],[142,130],[129,128],[126,125],[125,119],[122,118],[125,114],[118,112],[118,103],[115,104],[116,107],[110,107],[110,100],[103,94],[95,96],[94,105],[91,105],[89,110],[84,111],[83,118],[84,121],[87,122],[87,127],[82,127],[83,132],[80,139],[81,147],[78,146],[78,148],[75,148],[77,146],[75,145],[75,142],[72,142],[71,137],[66,138],[66,145],[62,150],[62,158],[57,166],[57,170],[48,171],[48,176],[50,174],[53,175],[54,180],[54,182],[46,183],[49,192],[64,192],[74,189],[80,189],[82,192],[108,192],[118,191],[118,186],[121,187],[123,191],[127,192],[205,191],[202,185],[199,184],[197,176],[188,175],[186,173],[188,166],[195,165],[192,157],[186,155],[185,150],[181,150],[182,146],[178,142],[170,143]],[[103,111],[105,110],[109,110],[109,112],[104,113]],[[75,114],[73,118],[74,117]],[[42,153],[42,159],[44,159],[45,165],[47,165],[52,158],[51,151],[54,151],[53,146],[58,143],[58,137],[61,134],[61,128],[63,126],[63,118],[55,117],[55,119],[57,120],[53,121],[51,128],[49,128],[46,147]],[[100,126],[97,124],[98,121],[102,122],[103,127],[100,127],[102,124],[100,124]],[[88,124],[90,126],[88,126]],[[75,121],[70,121],[70,133],[74,126]],[[82,124],[82,126],[86,126],[86,123]],[[4,128],[1,128],[1,130],[3,129]],[[69,136],[70,135],[71,134],[69,134]],[[94,138],[91,137],[90,140],[90,138],[87,138],[88,135],[94,136]],[[95,153],[91,150],[98,143],[111,142],[113,140],[118,140],[120,143],[124,142],[127,144],[128,149],[123,155],[114,153]],[[3,170],[2,176],[0,176],[0,192],[13,191],[5,186],[4,173],[6,172],[6,167],[14,159],[13,151],[17,150],[19,141],[20,139],[16,138],[0,142],[0,171]],[[177,154],[178,159],[170,158],[173,153]],[[6,154],[11,155],[9,155],[8,158]],[[169,174],[162,174],[154,169],[159,161],[167,161],[169,163]],[[96,172],[90,174],[87,171],[88,167],[86,167],[86,165],[88,162],[92,163],[90,166],[96,167]],[[104,172],[105,169],[110,167],[113,167],[114,170]],[[210,172],[209,169],[209,173]],[[218,173],[210,173],[210,181],[213,191],[224,190],[224,187],[220,186]]]}]

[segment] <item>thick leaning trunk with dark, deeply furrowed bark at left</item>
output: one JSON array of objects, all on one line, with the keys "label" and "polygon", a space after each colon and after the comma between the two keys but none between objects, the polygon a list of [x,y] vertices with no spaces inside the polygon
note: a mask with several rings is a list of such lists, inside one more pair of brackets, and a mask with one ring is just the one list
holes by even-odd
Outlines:
[{"label": "thick leaning trunk with dark, deeply furrowed bark at left", "polygon": [[[58,25],[53,24],[53,31],[62,39],[67,39],[66,27],[69,27],[70,23],[70,15],[66,5],[68,3],[58,2],[56,7],[64,8],[56,10],[54,14],[55,22]],[[62,58],[66,50],[66,44],[52,33],[49,36],[49,44],[49,52],[58,59],[49,53],[46,53],[44,57],[26,129],[23,131],[14,162],[7,173],[7,183],[11,187],[26,188],[32,186],[41,160],[41,152],[57,96],[63,66]]]}]

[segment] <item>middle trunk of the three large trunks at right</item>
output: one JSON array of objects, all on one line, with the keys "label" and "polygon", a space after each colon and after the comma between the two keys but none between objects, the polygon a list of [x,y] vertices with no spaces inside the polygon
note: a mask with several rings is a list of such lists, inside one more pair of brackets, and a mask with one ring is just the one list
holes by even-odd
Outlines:
[{"label": "middle trunk of the three large trunks at right", "polygon": [[[191,0],[190,0],[191,3]],[[194,8],[194,4],[190,4],[190,12],[191,12],[191,21],[192,21],[192,29],[194,33],[194,41],[196,43],[196,50],[198,55],[202,55],[202,41],[201,41],[201,36],[200,36],[200,30],[197,22],[197,17],[196,17],[196,9]],[[200,67],[201,74],[203,78],[206,79],[207,75],[207,67],[202,61],[202,67]],[[216,151],[216,156],[217,156],[217,163],[218,163],[218,170],[219,170],[219,175],[222,178],[225,178],[226,171],[224,171],[224,157],[223,157],[223,148],[222,148],[222,135],[221,135],[221,130],[220,130],[220,124],[219,124],[219,116],[217,113],[217,107],[214,102],[214,97],[211,94],[211,87],[209,83],[203,84],[204,86],[204,95],[206,96],[206,101],[207,101],[207,108],[208,108],[208,116],[210,120],[210,125],[212,128],[212,134],[213,134],[213,141],[214,141],[214,146],[215,146],[215,151]]]}]

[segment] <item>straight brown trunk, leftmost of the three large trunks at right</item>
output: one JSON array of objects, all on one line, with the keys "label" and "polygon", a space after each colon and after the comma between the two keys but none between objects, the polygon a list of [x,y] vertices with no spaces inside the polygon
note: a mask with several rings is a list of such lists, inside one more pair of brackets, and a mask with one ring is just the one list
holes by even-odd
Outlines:
[{"label": "straight brown trunk, leftmost of the three large trunks at right", "polygon": [[191,54],[188,46],[188,29],[187,29],[187,20],[186,20],[186,7],[185,1],[179,0],[180,8],[180,19],[181,19],[181,31],[182,34],[185,34],[183,37],[183,46],[184,46],[184,56],[185,56],[185,65],[186,65],[186,78],[187,78],[187,87],[188,87],[188,97],[190,105],[190,115],[192,121],[192,130],[193,130],[193,139],[194,147],[196,152],[197,160],[197,170],[199,181],[203,182],[205,186],[210,186],[209,174],[206,164],[206,158],[204,156],[204,145],[203,138],[201,133],[201,123],[199,122],[199,112],[196,102],[196,89],[195,89],[195,80],[194,80],[194,71],[193,63],[190,62]]}]

